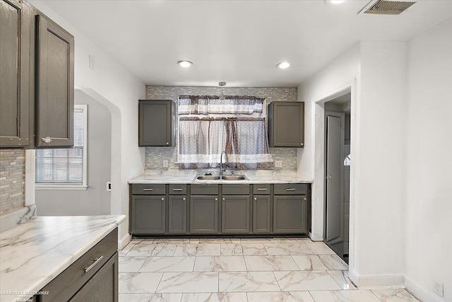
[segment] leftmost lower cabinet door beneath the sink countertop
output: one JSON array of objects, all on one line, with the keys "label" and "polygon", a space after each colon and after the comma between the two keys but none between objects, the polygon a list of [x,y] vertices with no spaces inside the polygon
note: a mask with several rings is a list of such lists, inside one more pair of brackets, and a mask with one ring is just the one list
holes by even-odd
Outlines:
[{"label": "leftmost lower cabinet door beneath the sink countertop", "polygon": [[165,196],[132,196],[132,234],[165,233]]}]

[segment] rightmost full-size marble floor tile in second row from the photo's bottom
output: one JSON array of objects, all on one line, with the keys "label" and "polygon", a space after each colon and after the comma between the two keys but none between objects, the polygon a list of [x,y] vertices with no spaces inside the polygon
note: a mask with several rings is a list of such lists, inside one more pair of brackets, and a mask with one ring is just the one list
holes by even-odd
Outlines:
[{"label": "rightmost full-size marble floor tile in second row from the photo's bottom", "polygon": [[274,272],[281,291],[335,290],[339,285],[326,271]]}]

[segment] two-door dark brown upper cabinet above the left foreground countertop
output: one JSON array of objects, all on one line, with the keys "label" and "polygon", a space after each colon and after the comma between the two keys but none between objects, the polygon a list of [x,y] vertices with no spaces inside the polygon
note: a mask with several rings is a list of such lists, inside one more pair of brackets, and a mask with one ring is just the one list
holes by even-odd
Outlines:
[{"label": "two-door dark brown upper cabinet above the left foreground countertop", "polygon": [[0,148],[73,146],[73,36],[0,0]]}]

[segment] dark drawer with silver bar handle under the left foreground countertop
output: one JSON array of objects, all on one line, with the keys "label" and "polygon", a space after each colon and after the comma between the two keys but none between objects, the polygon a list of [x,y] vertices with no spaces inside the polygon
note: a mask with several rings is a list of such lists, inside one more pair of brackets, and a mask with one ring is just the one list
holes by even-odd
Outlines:
[{"label": "dark drawer with silver bar handle under the left foreground countertop", "polygon": [[[49,291],[48,295],[38,296],[38,301],[68,301],[78,289],[83,286],[97,270],[105,265],[118,249],[118,229],[109,233],[93,248],[85,252],[76,262],[61,272],[55,279],[49,282],[42,291]],[[98,260],[95,265],[95,259]],[[93,267],[88,269],[91,265]],[[85,272],[85,270],[87,270]]]}]

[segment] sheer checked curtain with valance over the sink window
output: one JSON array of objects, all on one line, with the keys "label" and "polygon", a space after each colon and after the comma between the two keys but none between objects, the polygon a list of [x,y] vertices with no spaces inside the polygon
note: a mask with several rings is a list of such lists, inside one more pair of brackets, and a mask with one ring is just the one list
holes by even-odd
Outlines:
[{"label": "sheer checked curtain with valance over the sink window", "polygon": [[218,168],[222,151],[229,168],[273,168],[266,119],[242,116],[262,105],[263,99],[254,97],[179,97],[179,168]]}]

